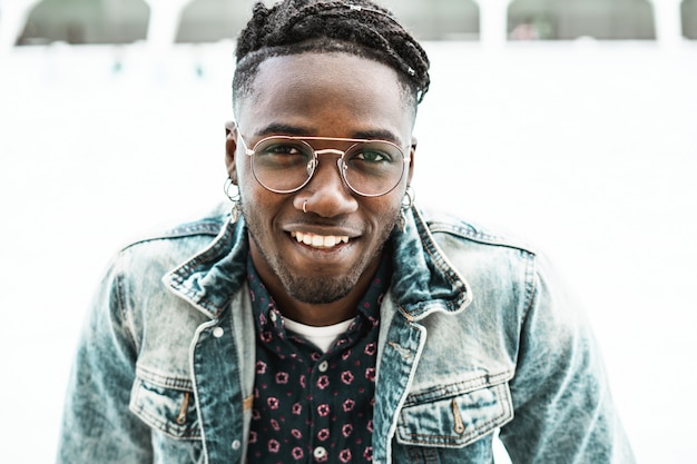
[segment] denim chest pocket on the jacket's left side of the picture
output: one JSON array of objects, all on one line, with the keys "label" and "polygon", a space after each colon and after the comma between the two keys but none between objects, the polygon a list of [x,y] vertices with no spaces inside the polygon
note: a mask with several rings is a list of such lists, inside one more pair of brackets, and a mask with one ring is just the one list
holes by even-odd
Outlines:
[{"label": "denim chest pocket on the jacket's left side of the picture", "polygon": [[143,422],[170,438],[202,438],[189,379],[137,369],[129,408]]}]

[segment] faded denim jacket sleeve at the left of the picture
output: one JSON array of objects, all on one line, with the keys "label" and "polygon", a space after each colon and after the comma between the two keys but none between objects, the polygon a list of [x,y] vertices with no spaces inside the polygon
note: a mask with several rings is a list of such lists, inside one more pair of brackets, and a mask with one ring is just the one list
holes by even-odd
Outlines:
[{"label": "faded denim jacket sleeve at the left of the picture", "polygon": [[70,375],[57,463],[151,463],[150,431],[128,408],[137,343],[115,260],[85,322]]}]

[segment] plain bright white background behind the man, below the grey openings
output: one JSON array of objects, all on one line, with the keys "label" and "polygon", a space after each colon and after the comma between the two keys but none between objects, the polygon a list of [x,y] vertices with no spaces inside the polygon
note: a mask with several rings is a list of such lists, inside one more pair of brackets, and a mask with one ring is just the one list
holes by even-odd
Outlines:
[{"label": "plain bright white background behind the man, below the grey openings", "polygon": [[[583,300],[640,463],[697,462],[697,43],[426,42],[422,206],[513,230]],[[111,255],[225,199],[233,42],[0,52],[0,461],[51,462]]]}]

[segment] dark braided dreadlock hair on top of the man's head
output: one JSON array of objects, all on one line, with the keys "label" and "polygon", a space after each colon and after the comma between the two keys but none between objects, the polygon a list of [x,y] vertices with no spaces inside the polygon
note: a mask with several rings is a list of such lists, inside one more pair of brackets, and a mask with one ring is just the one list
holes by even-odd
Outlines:
[{"label": "dark braided dreadlock hair on top of the man's head", "polygon": [[251,91],[267,58],[316,51],[343,51],[394,68],[414,105],[429,90],[426,52],[385,8],[370,0],[283,0],[272,8],[257,2],[237,38],[235,101]]}]

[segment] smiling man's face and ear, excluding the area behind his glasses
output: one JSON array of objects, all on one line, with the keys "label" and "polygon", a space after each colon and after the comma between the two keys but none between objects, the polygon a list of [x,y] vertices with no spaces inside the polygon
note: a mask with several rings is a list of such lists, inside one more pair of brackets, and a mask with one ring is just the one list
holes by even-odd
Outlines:
[{"label": "smiling man's face and ear, excluding the area behind his glasses", "polygon": [[[387,66],[346,53],[303,53],[262,63],[253,91],[238,102],[237,128],[228,134],[226,150],[252,257],[272,295],[320,305],[367,285],[411,179],[412,126],[413,110]],[[362,197],[343,182],[338,155],[324,154],[305,187],[275,194],[255,179],[237,131],[249,148],[274,135],[386,139],[403,147],[412,164],[392,191]],[[310,144],[316,150],[351,146]]]}]

